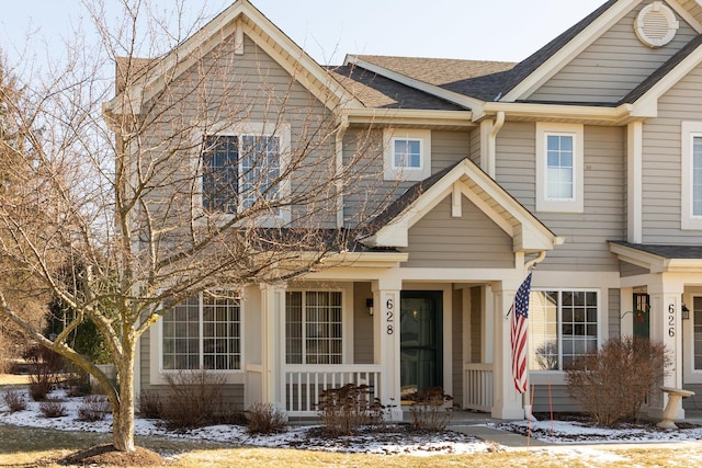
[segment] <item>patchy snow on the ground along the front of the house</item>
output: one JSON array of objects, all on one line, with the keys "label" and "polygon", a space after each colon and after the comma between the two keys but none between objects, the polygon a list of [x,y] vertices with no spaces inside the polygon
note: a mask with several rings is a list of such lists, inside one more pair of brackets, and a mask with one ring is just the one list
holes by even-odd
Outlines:
[{"label": "patchy snow on the ground along the front of the house", "polygon": [[[2,393],[2,389],[0,389]],[[60,399],[68,412],[61,418],[45,418],[39,411],[39,403],[29,397],[27,409],[10,413],[0,398],[0,423],[20,426],[55,429],[61,431],[87,431],[107,433],[111,431],[112,418],[106,415],[103,421],[78,421],[78,408],[82,398],[69,398],[64,391],[52,393]],[[482,424],[485,426],[486,424]],[[616,455],[600,452],[592,446],[573,446],[577,443],[627,443],[627,442],[682,442],[702,440],[702,427],[690,427],[677,431],[658,430],[654,425],[624,426],[618,430],[593,426],[581,422],[565,421],[517,421],[510,423],[490,423],[487,426],[505,432],[529,434],[534,440],[554,444],[568,444],[569,447],[539,447],[537,449],[561,452],[569,450],[574,457],[587,457],[595,461],[616,461]],[[249,435],[246,429],[237,425],[215,425],[201,427],[184,433],[167,431],[159,421],[136,419],[137,435],[156,435],[171,438],[212,441],[231,445],[249,445],[261,447],[288,447],[310,450],[327,450],[340,453],[370,454],[407,454],[427,456],[434,454],[471,454],[509,449],[494,442],[482,441],[478,437],[453,431],[439,434],[420,434],[401,430],[383,432],[367,432],[353,437],[338,437],[330,440],[318,435],[318,427],[308,425],[290,425],[281,434],[262,436]],[[536,449],[536,447],[534,447]]]}]

